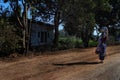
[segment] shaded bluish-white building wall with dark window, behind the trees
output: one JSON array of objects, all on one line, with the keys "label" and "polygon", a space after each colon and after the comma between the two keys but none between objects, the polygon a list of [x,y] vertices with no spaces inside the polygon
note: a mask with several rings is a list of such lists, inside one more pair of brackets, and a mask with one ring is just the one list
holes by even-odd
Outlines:
[{"label": "shaded bluish-white building wall with dark window, behind the trees", "polygon": [[31,27],[31,46],[52,45],[53,30],[47,29],[49,26],[32,24]]}]

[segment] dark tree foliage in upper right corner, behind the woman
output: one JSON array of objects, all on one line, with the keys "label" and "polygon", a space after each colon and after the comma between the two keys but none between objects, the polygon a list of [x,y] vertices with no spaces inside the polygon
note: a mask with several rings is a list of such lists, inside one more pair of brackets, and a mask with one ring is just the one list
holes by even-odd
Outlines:
[{"label": "dark tree foliage in upper right corner, behind the woman", "polygon": [[[109,0],[106,5],[108,6],[104,10],[102,7],[96,9],[96,23],[102,27],[107,26],[109,28],[109,34],[117,36],[119,29],[116,26],[120,21],[120,0]],[[110,26],[110,27],[109,27]]]}]

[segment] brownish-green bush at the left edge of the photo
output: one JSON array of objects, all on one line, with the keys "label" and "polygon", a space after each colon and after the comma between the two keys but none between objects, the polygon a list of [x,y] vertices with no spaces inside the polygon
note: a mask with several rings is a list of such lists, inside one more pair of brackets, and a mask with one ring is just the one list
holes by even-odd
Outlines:
[{"label": "brownish-green bush at the left edge of the photo", "polygon": [[8,56],[21,47],[21,38],[15,32],[16,26],[8,24],[0,27],[0,56]]}]

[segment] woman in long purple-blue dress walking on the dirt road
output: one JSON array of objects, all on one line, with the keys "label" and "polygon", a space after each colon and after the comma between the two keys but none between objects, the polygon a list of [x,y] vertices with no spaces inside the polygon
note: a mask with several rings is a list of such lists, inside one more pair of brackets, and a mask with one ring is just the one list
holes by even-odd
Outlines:
[{"label": "woman in long purple-blue dress walking on the dirt road", "polygon": [[101,60],[100,61],[101,63],[103,63],[103,60],[105,58],[107,39],[108,39],[108,28],[102,27],[101,36],[99,37],[98,46],[96,49],[96,52],[99,54],[99,60]]}]

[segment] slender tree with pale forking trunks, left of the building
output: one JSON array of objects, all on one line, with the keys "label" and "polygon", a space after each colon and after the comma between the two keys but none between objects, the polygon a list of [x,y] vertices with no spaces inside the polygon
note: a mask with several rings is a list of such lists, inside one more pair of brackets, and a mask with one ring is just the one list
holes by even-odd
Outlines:
[{"label": "slender tree with pale forking trunks, left of the building", "polygon": [[[29,33],[28,33],[28,1],[21,0],[23,7],[20,6],[19,0],[4,0],[4,2],[9,2],[10,8],[12,9],[12,18],[11,22],[17,23],[16,25],[21,27],[22,38],[23,38],[23,49],[24,52],[28,51],[28,42],[29,42]],[[23,11],[23,12],[22,12]]]}]

